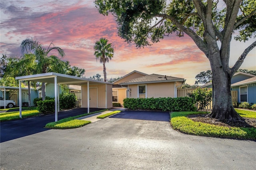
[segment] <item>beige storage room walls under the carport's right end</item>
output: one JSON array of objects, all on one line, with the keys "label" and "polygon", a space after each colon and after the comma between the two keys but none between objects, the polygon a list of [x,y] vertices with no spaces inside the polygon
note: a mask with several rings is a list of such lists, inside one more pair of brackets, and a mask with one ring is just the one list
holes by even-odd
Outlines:
[{"label": "beige storage room walls under the carport's right end", "polygon": [[[112,85],[100,84],[100,85],[90,85],[89,88],[97,88],[98,92],[98,108],[110,108],[112,107]],[[107,101],[106,101],[107,92]],[[81,107],[87,107],[87,85],[82,85],[82,102]],[[97,94],[91,94],[97,95]],[[106,106],[107,102],[107,106]]]}]

